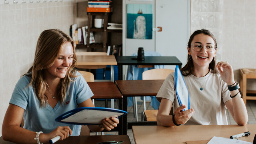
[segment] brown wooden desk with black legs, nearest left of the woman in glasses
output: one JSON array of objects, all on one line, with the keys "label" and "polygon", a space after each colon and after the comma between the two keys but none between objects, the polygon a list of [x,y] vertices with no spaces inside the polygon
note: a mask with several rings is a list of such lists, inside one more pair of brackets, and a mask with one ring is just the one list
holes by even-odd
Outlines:
[{"label": "brown wooden desk with black legs, nearest left of the woman in glasses", "polygon": [[[164,80],[116,80],[116,86],[123,95],[123,110],[127,111],[127,97],[129,96],[156,96]],[[127,123],[127,116],[123,118],[123,123]],[[128,129],[132,125],[156,125],[156,122],[129,122]],[[144,125],[145,125],[144,124]],[[123,134],[127,134],[127,127],[124,125]]]}]

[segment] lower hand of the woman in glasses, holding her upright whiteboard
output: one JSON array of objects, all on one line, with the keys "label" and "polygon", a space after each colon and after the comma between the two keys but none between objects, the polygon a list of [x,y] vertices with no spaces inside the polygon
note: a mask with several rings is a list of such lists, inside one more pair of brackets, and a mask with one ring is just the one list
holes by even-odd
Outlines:
[{"label": "lower hand of the woman in glasses, holding her upright whiteboard", "polygon": [[181,104],[181,106],[174,111],[174,120],[177,124],[187,123],[189,118],[192,117],[192,115],[195,113],[195,111],[192,108],[189,110],[182,111],[184,108],[186,108],[186,106]]}]

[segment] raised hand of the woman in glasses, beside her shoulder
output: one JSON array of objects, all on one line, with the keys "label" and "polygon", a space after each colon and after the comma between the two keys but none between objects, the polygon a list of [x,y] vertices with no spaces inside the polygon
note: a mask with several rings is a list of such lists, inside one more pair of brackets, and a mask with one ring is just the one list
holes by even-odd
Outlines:
[{"label": "raised hand of the woman in glasses, beside her shoulder", "polygon": [[228,64],[228,62],[218,62],[216,64],[216,68],[218,68],[221,79],[224,82],[226,82],[228,85],[233,85],[235,83],[233,68],[230,64]]}]

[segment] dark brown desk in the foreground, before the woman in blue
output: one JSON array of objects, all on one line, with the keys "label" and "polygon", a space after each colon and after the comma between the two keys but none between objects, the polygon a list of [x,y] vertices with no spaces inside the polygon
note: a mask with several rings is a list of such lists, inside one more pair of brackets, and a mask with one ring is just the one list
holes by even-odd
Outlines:
[{"label": "dark brown desk in the foreground, before the woman in blue", "polygon": [[[122,144],[131,144],[128,135],[91,135],[91,136],[69,136],[65,140],[59,140],[54,144],[97,144],[98,142],[103,141],[121,141],[124,142]],[[5,141],[3,138],[0,138],[1,144],[14,144],[13,142]],[[49,143],[48,143],[49,144]]]}]

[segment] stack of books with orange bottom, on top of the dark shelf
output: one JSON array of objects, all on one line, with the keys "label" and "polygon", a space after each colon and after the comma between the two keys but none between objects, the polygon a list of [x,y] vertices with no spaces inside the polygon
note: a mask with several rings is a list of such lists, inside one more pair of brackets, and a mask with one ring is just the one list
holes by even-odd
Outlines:
[{"label": "stack of books with orange bottom, on top of the dark shelf", "polygon": [[87,12],[111,12],[111,1],[88,1]]}]

